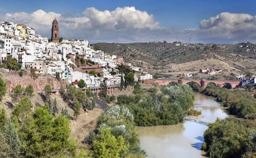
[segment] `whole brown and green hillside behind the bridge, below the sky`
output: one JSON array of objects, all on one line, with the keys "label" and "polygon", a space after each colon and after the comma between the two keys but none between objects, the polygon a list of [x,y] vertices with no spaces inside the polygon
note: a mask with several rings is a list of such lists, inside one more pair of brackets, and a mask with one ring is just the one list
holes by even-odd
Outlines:
[{"label": "whole brown and green hillside behind the bridge, below the sky", "polygon": [[93,48],[123,57],[125,62],[142,67],[154,75],[198,73],[200,69],[223,69],[224,75],[239,75],[246,70],[256,74],[256,44],[181,44],[181,43],[96,43]]}]

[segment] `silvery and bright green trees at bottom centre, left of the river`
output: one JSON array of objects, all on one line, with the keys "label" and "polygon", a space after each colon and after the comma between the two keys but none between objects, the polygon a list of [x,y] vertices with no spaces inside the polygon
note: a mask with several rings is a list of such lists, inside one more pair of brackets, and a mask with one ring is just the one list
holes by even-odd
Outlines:
[{"label": "silvery and bright green trees at bottom centre, left of the river", "polygon": [[112,106],[98,118],[95,130],[85,138],[92,157],[144,157],[135,133],[134,117],[124,106]]}]

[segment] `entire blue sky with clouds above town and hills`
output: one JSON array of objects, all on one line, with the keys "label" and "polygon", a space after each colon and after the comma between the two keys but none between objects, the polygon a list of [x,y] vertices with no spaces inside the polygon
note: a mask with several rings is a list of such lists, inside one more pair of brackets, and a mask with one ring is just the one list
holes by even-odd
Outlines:
[{"label": "entire blue sky with clouds above town and hills", "polygon": [[256,43],[255,0],[8,0],[0,21],[89,43]]}]

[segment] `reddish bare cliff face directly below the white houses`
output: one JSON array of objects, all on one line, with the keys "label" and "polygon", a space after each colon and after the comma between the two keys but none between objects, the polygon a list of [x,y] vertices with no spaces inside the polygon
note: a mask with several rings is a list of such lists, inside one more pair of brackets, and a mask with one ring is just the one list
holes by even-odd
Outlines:
[{"label": "reddish bare cliff face directly below the white houses", "polygon": [[50,75],[33,79],[28,71],[25,71],[22,77],[20,77],[19,72],[0,69],[0,76],[6,81],[7,92],[11,92],[12,88],[17,85],[21,85],[23,88],[28,85],[32,85],[34,91],[43,91],[45,89],[45,85],[50,85],[51,89],[60,89],[61,86],[65,87],[66,85],[66,83],[58,81]]}]

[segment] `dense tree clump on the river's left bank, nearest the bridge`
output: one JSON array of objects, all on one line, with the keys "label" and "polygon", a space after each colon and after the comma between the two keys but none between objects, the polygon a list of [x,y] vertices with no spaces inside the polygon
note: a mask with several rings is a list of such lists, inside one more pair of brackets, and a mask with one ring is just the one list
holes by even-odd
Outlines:
[{"label": "dense tree clump on the river's left bank, nearest the bridge", "polygon": [[194,106],[189,85],[163,86],[157,89],[140,89],[135,85],[134,96],[119,95],[119,106],[128,107],[138,126],[173,125],[184,121]]}]

